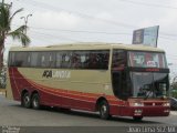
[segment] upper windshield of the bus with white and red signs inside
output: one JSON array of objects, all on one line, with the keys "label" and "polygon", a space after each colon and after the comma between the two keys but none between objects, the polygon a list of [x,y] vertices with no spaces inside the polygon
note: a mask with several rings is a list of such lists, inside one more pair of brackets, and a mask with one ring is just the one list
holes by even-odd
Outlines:
[{"label": "upper windshield of the bus with white and red signs inside", "polygon": [[165,53],[129,51],[128,66],[134,68],[167,68]]}]

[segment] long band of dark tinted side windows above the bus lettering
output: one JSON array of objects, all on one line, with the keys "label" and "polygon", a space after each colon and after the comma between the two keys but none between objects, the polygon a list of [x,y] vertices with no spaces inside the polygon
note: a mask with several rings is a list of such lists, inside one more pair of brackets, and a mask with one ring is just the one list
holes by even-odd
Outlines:
[{"label": "long band of dark tinted side windows above the bus lettering", "polygon": [[10,65],[60,69],[108,69],[108,50],[11,52]]}]

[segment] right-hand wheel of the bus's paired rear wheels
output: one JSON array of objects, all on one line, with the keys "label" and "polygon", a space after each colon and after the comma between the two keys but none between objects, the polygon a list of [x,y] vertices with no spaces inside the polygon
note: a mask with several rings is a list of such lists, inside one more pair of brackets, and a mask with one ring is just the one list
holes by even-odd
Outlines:
[{"label": "right-hand wheel of the bus's paired rear wheels", "polygon": [[39,110],[41,108],[41,105],[40,105],[40,96],[39,96],[38,93],[34,93],[32,95],[31,103],[32,103],[32,109],[34,109],[34,110]]}]

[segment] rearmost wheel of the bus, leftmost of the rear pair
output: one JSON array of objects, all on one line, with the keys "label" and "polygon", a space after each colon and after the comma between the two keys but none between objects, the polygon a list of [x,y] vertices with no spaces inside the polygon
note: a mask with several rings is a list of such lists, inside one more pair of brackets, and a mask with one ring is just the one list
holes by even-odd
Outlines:
[{"label": "rearmost wheel of the bus, leftmost of the rear pair", "polygon": [[31,108],[31,99],[29,92],[25,92],[21,99],[22,106],[30,109]]}]

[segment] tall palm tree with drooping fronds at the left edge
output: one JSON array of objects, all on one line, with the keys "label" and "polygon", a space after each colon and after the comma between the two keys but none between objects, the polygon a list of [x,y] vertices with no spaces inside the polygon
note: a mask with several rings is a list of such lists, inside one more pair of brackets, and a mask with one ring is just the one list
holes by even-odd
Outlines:
[{"label": "tall palm tree with drooping fronds at the left edge", "polygon": [[11,37],[13,40],[21,41],[22,45],[28,45],[30,43],[30,38],[25,34],[28,29],[27,25],[21,25],[15,30],[11,30],[11,23],[15,14],[21,12],[23,9],[19,9],[11,13],[12,6],[6,3],[0,3],[0,71],[3,66],[3,49],[4,40],[7,37]]}]

